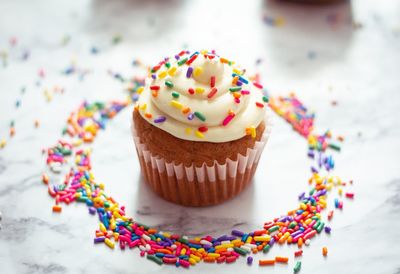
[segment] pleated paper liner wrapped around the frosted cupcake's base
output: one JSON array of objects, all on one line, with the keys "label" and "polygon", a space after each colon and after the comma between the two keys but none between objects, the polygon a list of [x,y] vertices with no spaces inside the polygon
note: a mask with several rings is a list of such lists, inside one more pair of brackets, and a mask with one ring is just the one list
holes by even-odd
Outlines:
[{"label": "pleated paper liner wrapped around the frosted cupcake's base", "polygon": [[[271,115],[268,115],[271,117]],[[239,194],[253,178],[261,153],[271,132],[271,118],[266,121],[263,136],[246,155],[237,160],[226,158],[223,164],[214,161],[212,166],[189,167],[168,163],[159,155],[153,155],[136,134],[132,124],[143,177],[147,184],[162,198],[185,206],[209,206],[219,204]]]}]

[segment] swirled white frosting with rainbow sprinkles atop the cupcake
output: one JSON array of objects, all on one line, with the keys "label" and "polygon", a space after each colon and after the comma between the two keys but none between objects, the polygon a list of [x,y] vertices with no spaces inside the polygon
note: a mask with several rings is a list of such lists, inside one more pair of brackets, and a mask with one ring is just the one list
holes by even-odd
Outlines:
[{"label": "swirled white frosting with rainbow sprinkles atop the cupcake", "polygon": [[137,109],[177,138],[219,143],[246,134],[255,137],[265,118],[268,106],[261,86],[217,55],[181,52],[152,71]]}]

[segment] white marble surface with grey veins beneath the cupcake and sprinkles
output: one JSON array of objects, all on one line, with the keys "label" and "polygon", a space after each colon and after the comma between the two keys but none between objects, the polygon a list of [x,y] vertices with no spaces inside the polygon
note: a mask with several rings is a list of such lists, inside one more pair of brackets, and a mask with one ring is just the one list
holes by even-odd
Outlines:
[{"label": "white marble surface with grey veins beneath the cupcake and sprinkles", "polygon": [[[0,150],[0,272],[186,271],[159,267],[137,250],[93,246],[96,218],[81,205],[53,214],[40,176],[41,149],[60,137],[70,111],[83,99],[125,96],[107,70],[137,75],[142,72],[132,67],[133,60],[154,63],[188,47],[214,48],[259,72],[271,94],[295,91],[316,111],[318,129],[346,137],[335,155],[335,173],[354,180],[356,196],[335,215],[332,235],[305,248],[302,273],[400,273],[399,14],[395,0],[326,7],[228,0],[0,1],[0,140],[7,139]],[[123,39],[112,45],[117,34]],[[62,45],[66,35],[70,41]],[[14,47],[11,37],[17,38]],[[90,53],[93,46],[97,55]],[[80,72],[64,75],[71,62]],[[54,92],[57,86],[64,93]],[[45,90],[54,93],[51,102]],[[275,117],[254,184],[240,196],[202,209],[167,203],[142,183],[130,112],[124,110],[98,137],[93,166],[108,192],[141,222],[187,235],[256,229],[294,208],[298,193],[308,187],[306,142]],[[11,120],[16,135],[9,140]],[[322,246],[329,248],[327,258]],[[268,256],[292,258],[293,251],[276,247]],[[190,272],[292,273],[292,262],[266,269],[241,259],[233,265],[200,264]]]}]

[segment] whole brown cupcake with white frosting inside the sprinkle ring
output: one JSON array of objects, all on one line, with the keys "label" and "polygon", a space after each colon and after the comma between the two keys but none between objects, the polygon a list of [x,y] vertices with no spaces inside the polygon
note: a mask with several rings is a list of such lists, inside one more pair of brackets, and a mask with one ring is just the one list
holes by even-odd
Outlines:
[{"label": "whole brown cupcake with white frosting inside the sprinkle ring", "polygon": [[238,195],[251,182],[271,129],[262,86],[208,51],[182,51],[150,72],[132,125],[147,184],[185,206]]}]

